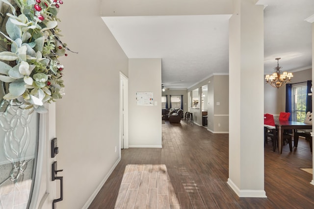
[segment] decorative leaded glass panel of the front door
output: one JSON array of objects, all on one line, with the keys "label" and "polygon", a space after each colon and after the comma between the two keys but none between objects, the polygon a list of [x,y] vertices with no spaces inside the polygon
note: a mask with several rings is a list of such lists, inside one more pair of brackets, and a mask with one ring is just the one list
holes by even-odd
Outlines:
[{"label": "decorative leaded glass panel of the front door", "polygon": [[0,209],[26,209],[36,173],[39,114],[0,101]]}]

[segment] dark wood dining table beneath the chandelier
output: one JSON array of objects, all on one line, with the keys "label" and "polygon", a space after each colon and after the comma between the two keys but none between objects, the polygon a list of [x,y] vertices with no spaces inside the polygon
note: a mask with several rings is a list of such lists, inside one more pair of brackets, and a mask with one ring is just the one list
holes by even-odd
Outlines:
[{"label": "dark wood dining table beneath the chandelier", "polygon": [[297,129],[312,129],[312,124],[298,122],[298,121],[275,121],[276,129],[278,130],[278,151],[280,154],[283,152],[284,145],[284,130],[293,130],[293,133]]}]

